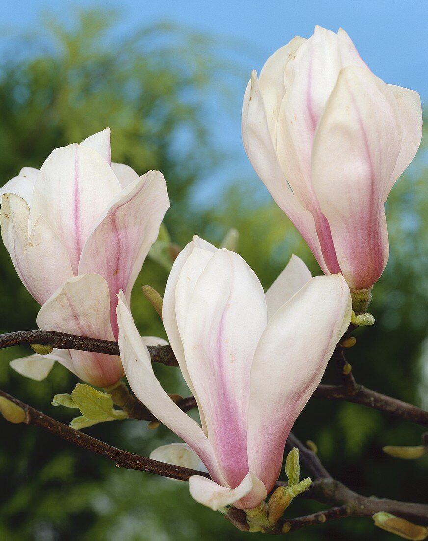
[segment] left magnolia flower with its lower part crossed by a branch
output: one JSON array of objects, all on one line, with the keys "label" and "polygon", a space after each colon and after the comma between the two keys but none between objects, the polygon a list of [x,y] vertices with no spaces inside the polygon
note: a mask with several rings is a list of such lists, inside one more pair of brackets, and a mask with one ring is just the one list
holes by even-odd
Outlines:
[{"label": "left magnolia flower with its lower part crossed by a branch", "polygon": [[[1,228],[16,272],[43,305],[41,329],[115,340],[117,294],[130,299],[169,206],[164,176],[111,163],[110,129],[57,148],[0,190]],[[41,379],[58,360],[97,386],[123,375],[117,355],[53,351],[12,365]],[[39,360],[38,368],[35,362]]]}]

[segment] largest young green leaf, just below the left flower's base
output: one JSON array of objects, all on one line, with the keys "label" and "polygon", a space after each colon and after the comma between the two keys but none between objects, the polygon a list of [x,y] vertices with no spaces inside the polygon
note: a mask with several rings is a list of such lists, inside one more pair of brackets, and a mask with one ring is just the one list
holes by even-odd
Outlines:
[{"label": "largest young green leaf, just below the left flower's base", "polygon": [[122,410],[113,410],[113,399],[110,394],[97,391],[90,385],[78,383],[71,392],[72,399],[87,419],[110,420],[125,419],[126,413]]}]

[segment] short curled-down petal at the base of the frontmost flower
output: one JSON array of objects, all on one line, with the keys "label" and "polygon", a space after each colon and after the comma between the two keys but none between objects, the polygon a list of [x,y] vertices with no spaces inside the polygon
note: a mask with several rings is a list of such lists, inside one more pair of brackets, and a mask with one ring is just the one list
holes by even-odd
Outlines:
[{"label": "short curled-down petal at the base of the frontmost flower", "polygon": [[218,485],[206,477],[194,475],[189,479],[189,490],[196,502],[210,507],[213,511],[230,504],[235,504],[240,509],[255,507],[266,498],[266,489],[252,472],[248,472],[235,489]]}]

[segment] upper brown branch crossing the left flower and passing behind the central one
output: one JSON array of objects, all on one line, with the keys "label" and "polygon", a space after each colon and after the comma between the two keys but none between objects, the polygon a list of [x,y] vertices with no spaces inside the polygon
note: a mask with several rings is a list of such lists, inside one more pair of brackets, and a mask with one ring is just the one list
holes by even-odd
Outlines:
[{"label": "upper brown branch crossing the left flower and passing behind the central one", "polygon": [[[117,342],[96,338],[84,338],[39,330],[19,331],[0,335],[0,349],[19,344],[46,344],[59,349],[80,349],[113,355],[119,354]],[[150,352],[152,362],[160,362],[166,366],[178,366],[171,346],[149,346],[148,351]],[[347,361],[340,346],[335,349],[333,359],[338,366],[342,367],[342,385],[318,385],[313,395],[315,398],[354,402],[355,404],[362,404],[375,410],[395,415],[395,417],[401,419],[413,421],[413,423],[418,423],[422,426],[428,426],[428,411],[358,385],[352,373],[343,374],[343,366],[347,364]],[[196,405],[196,403],[192,402],[192,398],[188,400],[191,400],[191,404],[193,404],[188,409]]]}]

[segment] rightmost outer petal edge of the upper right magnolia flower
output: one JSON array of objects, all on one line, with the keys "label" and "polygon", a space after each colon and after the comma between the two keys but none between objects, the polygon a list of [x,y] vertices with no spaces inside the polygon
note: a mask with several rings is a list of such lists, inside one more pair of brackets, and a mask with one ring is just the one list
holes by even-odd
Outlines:
[{"label": "rightmost outer petal edge of the upper right magnolia flower", "polygon": [[389,84],[392,94],[395,96],[403,129],[403,141],[398,154],[397,163],[392,171],[391,179],[386,184],[384,200],[398,177],[409,167],[415,157],[422,138],[422,107],[419,94],[408,88],[397,87]]}]

